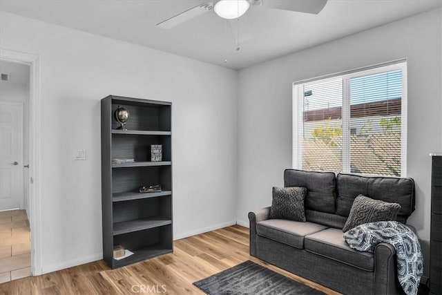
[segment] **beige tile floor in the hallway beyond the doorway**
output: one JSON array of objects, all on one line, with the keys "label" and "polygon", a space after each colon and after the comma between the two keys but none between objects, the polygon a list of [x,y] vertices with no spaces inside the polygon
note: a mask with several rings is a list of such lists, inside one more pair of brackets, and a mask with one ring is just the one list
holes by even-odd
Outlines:
[{"label": "beige tile floor in the hallway beyond the doorway", "polygon": [[30,228],[26,211],[1,211],[0,283],[30,275]]}]

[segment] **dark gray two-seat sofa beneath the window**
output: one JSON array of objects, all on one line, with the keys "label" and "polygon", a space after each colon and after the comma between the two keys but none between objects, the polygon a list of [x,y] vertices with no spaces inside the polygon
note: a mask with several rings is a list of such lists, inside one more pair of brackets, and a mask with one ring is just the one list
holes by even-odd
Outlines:
[{"label": "dark gray two-seat sofa beneath the window", "polygon": [[307,187],[307,222],[269,219],[270,207],[249,213],[250,254],[343,294],[402,294],[395,249],[384,242],[374,254],[351,249],[343,226],[359,194],[401,204],[397,221],[414,211],[411,178],[287,169],[285,187]]}]

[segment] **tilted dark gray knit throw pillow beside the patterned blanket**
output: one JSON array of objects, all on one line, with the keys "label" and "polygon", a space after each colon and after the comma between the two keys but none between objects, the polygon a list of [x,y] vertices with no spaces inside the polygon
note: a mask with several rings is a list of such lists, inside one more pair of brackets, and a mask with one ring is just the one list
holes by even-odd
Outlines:
[{"label": "tilted dark gray knit throw pillow beside the patterned blanket", "polygon": [[394,221],[400,209],[400,204],[373,200],[372,198],[359,195],[354,199],[343,231],[348,231],[358,225],[369,222]]}]

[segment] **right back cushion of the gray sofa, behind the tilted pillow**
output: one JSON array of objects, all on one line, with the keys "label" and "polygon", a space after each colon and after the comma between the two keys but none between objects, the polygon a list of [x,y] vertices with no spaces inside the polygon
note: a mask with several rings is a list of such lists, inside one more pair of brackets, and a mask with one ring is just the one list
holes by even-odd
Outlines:
[{"label": "right back cushion of the gray sofa, behind the tilted pillow", "polygon": [[349,216],[354,198],[360,194],[375,200],[400,204],[401,210],[396,219],[399,222],[405,223],[414,211],[412,178],[368,177],[339,173],[336,183],[338,189],[336,214],[340,216]]}]

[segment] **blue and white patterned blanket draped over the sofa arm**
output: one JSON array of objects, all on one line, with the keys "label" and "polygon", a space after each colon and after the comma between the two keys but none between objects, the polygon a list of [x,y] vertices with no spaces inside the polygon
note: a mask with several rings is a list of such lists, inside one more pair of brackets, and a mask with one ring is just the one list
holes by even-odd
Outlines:
[{"label": "blue and white patterned blanket draped over the sofa arm", "polygon": [[378,221],[358,225],[344,233],[348,245],[359,251],[374,252],[380,242],[396,249],[399,283],[405,294],[416,295],[423,273],[421,244],[411,229],[396,221]]}]

